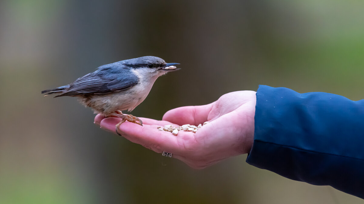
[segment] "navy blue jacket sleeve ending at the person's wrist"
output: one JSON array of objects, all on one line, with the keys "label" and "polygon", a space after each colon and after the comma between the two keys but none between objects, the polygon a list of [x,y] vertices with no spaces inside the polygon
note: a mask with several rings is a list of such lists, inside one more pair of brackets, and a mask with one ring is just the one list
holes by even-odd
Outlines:
[{"label": "navy blue jacket sleeve ending at the person's wrist", "polygon": [[364,100],[260,85],[246,162],[364,199]]}]

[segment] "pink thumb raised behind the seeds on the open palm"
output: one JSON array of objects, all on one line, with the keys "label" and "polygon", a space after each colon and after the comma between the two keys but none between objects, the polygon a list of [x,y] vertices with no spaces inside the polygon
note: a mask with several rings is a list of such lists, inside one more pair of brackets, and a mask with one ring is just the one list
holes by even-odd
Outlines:
[{"label": "pink thumb raised behind the seeds on the open palm", "polygon": [[215,102],[203,106],[184,106],[167,111],[163,121],[170,121],[178,125],[198,125],[207,121],[207,117]]}]

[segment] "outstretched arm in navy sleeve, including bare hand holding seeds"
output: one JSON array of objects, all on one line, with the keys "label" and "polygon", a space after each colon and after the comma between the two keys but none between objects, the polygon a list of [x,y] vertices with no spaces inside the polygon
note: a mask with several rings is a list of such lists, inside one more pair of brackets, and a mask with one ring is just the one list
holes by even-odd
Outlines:
[{"label": "outstretched arm in navy sleeve, including bare hand holding seeds", "polygon": [[[95,123],[115,132],[119,120],[98,115]],[[257,93],[236,91],[208,105],[170,110],[163,121],[142,120],[147,125],[123,123],[120,132],[193,168],[250,152],[246,162],[256,167],[364,198],[364,100],[260,86]],[[196,133],[157,130],[206,121]]]}]

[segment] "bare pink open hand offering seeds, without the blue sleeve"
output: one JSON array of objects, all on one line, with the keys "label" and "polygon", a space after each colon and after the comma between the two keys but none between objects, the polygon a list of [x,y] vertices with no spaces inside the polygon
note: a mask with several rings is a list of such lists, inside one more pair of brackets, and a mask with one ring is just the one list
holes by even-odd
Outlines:
[{"label": "bare pink open hand offering seeds, without the blue sleeve", "polygon": [[[185,106],[167,111],[162,121],[141,118],[143,126],[124,122],[119,127],[123,137],[155,152],[172,153],[192,168],[205,168],[222,159],[246,154],[254,136],[255,91],[235,91],[222,95],[217,101],[203,106]],[[95,123],[115,133],[119,118],[95,117]],[[159,131],[158,126],[198,125],[196,133]]]}]

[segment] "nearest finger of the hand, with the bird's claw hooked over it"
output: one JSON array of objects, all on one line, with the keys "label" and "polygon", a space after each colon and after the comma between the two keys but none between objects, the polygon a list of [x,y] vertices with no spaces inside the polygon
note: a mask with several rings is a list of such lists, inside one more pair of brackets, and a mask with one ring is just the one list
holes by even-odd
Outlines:
[{"label": "nearest finger of the hand, with the bird's claw hooked over it", "polygon": [[[105,118],[101,121],[100,126],[107,131],[115,132],[115,125],[118,122],[120,122],[118,118]],[[124,122],[120,125],[118,132],[131,142],[141,144],[155,152],[181,153],[183,151],[178,145],[176,136],[170,132],[159,131],[155,127]]]}]

